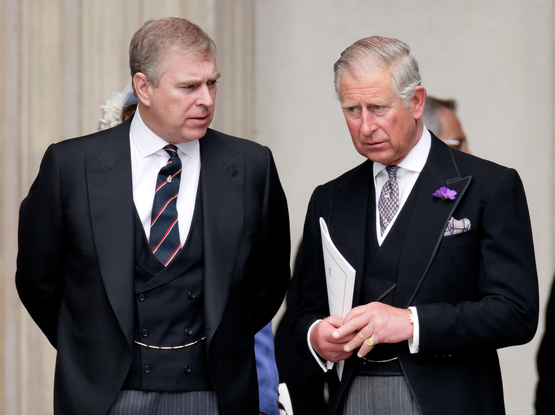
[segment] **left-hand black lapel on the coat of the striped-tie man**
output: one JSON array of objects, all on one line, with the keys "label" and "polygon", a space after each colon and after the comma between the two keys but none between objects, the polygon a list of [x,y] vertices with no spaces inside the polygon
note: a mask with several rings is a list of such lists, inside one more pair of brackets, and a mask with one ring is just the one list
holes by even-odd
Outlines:
[{"label": "left-hand black lapel on the coat of the striped-tie man", "polygon": [[119,325],[132,344],[135,261],[130,124],[129,119],[112,129],[98,158],[85,158],[85,176],[100,273]]}]

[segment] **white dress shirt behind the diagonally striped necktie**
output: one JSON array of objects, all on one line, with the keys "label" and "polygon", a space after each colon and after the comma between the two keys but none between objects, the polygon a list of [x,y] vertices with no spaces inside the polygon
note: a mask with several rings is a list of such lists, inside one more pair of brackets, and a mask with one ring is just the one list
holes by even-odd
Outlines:
[{"label": "white dress shirt behind the diagonally striped necktie", "polygon": [[[129,141],[131,144],[131,174],[133,179],[133,202],[143,223],[147,239],[150,239],[150,221],[152,204],[158,172],[168,163],[169,154],[163,149],[168,145],[164,139],[154,134],[146,126],[139,114],[140,104],[131,121]],[[185,245],[193,211],[195,208],[196,189],[200,177],[200,146],[199,141],[176,144],[178,156],[183,169],[177,197],[177,214],[179,240],[181,247]]]}]

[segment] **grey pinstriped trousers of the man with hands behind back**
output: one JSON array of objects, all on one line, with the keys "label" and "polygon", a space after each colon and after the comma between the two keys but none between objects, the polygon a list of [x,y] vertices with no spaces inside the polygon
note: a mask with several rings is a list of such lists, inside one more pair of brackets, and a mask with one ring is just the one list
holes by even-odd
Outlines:
[{"label": "grey pinstriped trousers of the man with hands behind back", "polygon": [[106,415],[219,415],[216,392],[120,391]]}]

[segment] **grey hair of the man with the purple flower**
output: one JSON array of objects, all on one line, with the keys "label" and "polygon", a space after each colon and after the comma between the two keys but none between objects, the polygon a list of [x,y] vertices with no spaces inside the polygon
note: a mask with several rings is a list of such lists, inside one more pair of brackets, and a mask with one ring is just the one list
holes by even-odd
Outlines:
[{"label": "grey hair of the man with the purple flower", "polygon": [[359,39],[341,53],[341,57],[334,64],[337,97],[340,98],[339,81],[342,76],[376,67],[390,70],[391,89],[401,98],[405,107],[408,107],[415,94],[415,88],[422,81],[418,62],[411,55],[411,49],[406,43],[381,36]]}]

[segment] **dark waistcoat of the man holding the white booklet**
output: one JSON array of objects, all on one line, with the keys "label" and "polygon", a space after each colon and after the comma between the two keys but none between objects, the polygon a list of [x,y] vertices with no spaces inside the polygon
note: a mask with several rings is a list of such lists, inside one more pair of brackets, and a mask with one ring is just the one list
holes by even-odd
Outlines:
[{"label": "dark waistcoat of the man holding the white booklet", "polygon": [[[360,290],[360,304],[379,301],[389,306],[399,307],[399,304],[395,304],[398,263],[401,258],[412,206],[416,199],[416,187],[415,183],[381,246],[379,246],[376,237],[376,215],[379,214],[376,212],[376,194],[374,191],[369,192],[364,276],[362,277]],[[401,307],[404,305],[402,304]],[[397,350],[400,348],[408,348],[407,342],[378,344],[365,357],[373,361],[386,361],[397,357]],[[401,376],[403,374],[398,359],[381,363],[372,363],[360,359],[359,373],[374,376]]]}]

